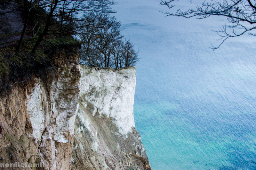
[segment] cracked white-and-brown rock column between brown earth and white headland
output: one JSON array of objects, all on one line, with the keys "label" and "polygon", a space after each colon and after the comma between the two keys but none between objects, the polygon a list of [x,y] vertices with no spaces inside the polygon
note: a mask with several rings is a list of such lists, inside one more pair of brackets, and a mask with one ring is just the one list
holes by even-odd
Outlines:
[{"label": "cracked white-and-brown rock column between brown earth and white headland", "polygon": [[47,170],[69,170],[75,118],[78,110],[80,71],[78,64],[63,64],[51,84],[35,78],[27,94],[27,110],[38,155]]}]

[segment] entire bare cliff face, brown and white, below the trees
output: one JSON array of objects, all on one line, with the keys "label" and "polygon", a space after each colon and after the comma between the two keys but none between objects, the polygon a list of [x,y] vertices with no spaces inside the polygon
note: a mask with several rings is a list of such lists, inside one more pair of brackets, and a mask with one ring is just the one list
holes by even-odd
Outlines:
[{"label": "entire bare cliff face, brown and white, below the trees", "polygon": [[43,85],[34,77],[1,101],[0,165],[150,169],[134,127],[135,67],[89,68],[61,55],[68,60],[55,61],[58,74],[52,82]]}]

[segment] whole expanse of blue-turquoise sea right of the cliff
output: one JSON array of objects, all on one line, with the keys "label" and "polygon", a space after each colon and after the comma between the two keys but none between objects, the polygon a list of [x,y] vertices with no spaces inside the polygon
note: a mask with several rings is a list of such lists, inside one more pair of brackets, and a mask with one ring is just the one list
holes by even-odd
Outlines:
[{"label": "whole expanse of blue-turquoise sea right of the cliff", "polygon": [[256,37],[213,52],[225,18],[164,18],[159,3],[114,7],[140,50],[134,119],[152,170],[255,170]]}]

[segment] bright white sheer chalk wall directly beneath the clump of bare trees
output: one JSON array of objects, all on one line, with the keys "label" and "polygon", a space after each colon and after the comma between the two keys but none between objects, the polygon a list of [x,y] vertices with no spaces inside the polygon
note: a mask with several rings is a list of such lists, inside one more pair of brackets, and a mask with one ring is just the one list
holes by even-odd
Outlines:
[{"label": "bright white sheer chalk wall directly beneath the clump of bare trees", "polygon": [[113,117],[122,135],[132,131],[136,68],[95,69],[80,65],[80,103],[84,108]]}]

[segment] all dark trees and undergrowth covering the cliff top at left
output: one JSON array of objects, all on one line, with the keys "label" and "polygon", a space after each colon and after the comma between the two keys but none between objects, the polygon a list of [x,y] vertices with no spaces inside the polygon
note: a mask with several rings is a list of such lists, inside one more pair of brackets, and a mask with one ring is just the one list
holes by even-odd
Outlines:
[{"label": "all dark trees and undergrowth covering the cliff top at left", "polygon": [[11,23],[11,17],[20,17],[24,27],[20,33],[6,27],[7,34],[0,36],[0,97],[32,74],[48,81],[54,74],[54,60],[61,58],[53,53],[69,53],[67,46],[80,47],[69,55],[79,53],[80,63],[91,67],[134,65],[138,52],[130,40],[123,39],[120,22],[110,16],[115,13],[113,4],[113,0],[1,1],[2,21]]}]

